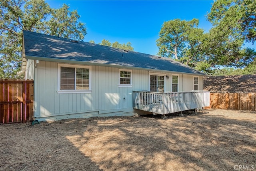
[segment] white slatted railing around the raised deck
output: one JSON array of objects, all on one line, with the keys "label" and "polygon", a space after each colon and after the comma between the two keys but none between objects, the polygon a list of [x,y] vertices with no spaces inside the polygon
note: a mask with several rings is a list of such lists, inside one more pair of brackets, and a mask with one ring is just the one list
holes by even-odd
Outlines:
[{"label": "white slatted railing around the raised deck", "polygon": [[210,105],[210,91],[157,93],[133,91],[133,108],[168,114]]}]

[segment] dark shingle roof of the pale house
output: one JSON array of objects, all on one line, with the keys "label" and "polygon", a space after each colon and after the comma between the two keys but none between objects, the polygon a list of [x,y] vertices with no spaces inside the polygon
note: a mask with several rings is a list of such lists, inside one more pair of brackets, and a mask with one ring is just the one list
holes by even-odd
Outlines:
[{"label": "dark shingle roof of the pale house", "polygon": [[23,31],[23,38],[27,59],[205,75],[170,58],[28,31]]}]

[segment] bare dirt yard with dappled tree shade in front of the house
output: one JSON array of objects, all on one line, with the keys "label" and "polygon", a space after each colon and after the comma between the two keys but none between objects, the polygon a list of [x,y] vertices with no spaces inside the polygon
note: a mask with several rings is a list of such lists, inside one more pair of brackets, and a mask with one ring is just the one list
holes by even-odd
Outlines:
[{"label": "bare dirt yard with dappled tree shade in front of the house", "polygon": [[0,126],[1,171],[256,169],[256,112],[92,117]]}]

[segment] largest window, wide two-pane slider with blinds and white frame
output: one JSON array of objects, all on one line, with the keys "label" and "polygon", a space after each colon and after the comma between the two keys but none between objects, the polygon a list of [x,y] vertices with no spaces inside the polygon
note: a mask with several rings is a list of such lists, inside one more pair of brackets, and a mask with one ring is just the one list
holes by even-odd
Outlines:
[{"label": "largest window, wide two-pane slider with blinds and white frame", "polygon": [[91,92],[91,67],[58,64],[58,93]]}]

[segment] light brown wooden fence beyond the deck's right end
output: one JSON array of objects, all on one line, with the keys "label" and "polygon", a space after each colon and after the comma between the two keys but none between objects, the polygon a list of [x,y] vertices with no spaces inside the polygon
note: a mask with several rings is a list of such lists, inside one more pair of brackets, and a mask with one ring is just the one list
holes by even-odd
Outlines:
[{"label": "light brown wooden fence beyond the deck's right end", "polygon": [[256,93],[210,93],[210,106],[205,108],[256,111]]}]

